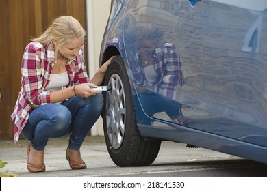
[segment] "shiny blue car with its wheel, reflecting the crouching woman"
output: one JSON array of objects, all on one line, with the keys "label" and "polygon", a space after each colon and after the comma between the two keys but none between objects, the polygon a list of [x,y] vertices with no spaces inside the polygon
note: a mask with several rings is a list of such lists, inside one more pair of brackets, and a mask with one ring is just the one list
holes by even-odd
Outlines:
[{"label": "shiny blue car with its wheel, reflecting the crouching woman", "polygon": [[113,0],[99,65],[107,150],[147,166],[162,141],[267,164],[267,0]]}]

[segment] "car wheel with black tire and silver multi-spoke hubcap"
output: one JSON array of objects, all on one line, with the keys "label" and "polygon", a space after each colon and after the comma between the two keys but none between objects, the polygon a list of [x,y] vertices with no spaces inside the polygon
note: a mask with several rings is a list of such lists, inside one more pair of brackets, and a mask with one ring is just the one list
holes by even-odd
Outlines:
[{"label": "car wheel with black tire and silver multi-spoke hubcap", "polygon": [[105,109],[103,126],[105,143],[113,162],[118,166],[147,166],[154,162],[161,141],[145,141],[136,125],[133,95],[123,59],[118,56],[110,63],[104,85]]}]

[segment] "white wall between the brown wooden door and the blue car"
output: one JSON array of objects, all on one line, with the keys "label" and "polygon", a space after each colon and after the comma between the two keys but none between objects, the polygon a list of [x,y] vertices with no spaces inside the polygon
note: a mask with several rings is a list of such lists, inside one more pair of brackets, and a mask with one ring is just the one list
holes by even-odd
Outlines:
[{"label": "white wall between the brown wooden door and the blue car", "polygon": [[[99,53],[105,24],[110,14],[110,0],[86,0],[87,12],[87,44],[88,44],[88,72],[90,78],[99,66]],[[94,124],[92,136],[103,135],[102,117]]]}]

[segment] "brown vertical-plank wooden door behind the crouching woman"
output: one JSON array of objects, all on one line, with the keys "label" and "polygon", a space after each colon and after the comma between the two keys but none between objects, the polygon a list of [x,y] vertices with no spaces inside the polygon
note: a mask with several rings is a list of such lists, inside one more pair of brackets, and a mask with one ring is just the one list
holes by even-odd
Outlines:
[{"label": "brown vertical-plank wooden door behind the crouching woman", "polygon": [[[31,37],[70,15],[86,29],[86,0],[0,0],[0,138],[13,138],[10,115],[21,89],[21,59]],[[85,47],[86,48],[86,47]],[[85,50],[86,53],[86,50]]]}]

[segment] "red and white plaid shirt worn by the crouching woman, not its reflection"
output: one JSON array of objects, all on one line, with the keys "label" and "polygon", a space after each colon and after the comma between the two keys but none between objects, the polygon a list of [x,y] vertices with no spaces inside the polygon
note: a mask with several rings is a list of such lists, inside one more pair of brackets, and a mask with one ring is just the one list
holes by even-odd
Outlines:
[{"label": "red and white plaid shirt worn by the crouching woman, not its reflection", "polygon": [[[26,46],[21,63],[21,91],[18,93],[18,99],[11,115],[14,121],[16,145],[19,135],[27,123],[31,108],[51,103],[50,91],[44,91],[44,89],[49,84],[54,64],[53,46],[44,46],[38,42],[31,42]],[[66,87],[89,82],[90,79],[84,65],[84,46],[79,50],[79,55],[75,59],[68,60],[66,70],[70,78],[70,83]]]}]

